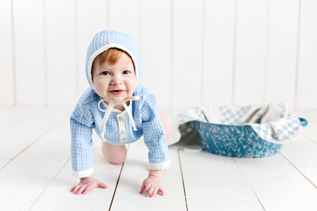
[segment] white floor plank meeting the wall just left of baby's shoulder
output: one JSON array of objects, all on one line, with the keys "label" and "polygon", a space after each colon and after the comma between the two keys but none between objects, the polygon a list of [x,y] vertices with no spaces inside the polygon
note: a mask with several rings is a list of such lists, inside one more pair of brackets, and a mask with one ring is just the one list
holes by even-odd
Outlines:
[{"label": "white floor plank meeting the wall just left of baby's shoulder", "polygon": [[68,108],[45,108],[36,115],[1,133],[0,169],[49,131],[63,117],[69,119],[69,116],[70,109]]}]

